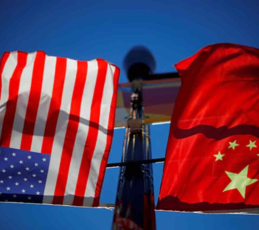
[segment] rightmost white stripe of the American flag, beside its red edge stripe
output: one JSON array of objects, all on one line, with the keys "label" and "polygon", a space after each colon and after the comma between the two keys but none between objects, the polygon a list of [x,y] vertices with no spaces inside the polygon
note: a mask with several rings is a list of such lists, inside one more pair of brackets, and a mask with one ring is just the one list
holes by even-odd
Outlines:
[{"label": "rightmost white stripe of the American flag, beside its red edge stripe", "polygon": [[[108,65],[101,103],[98,136],[86,185],[85,198],[83,203],[84,206],[92,206],[93,204],[100,164],[102,162],[102,157],[106,147],[110,107],[113,96],[114,71],[115,67],[112,65]],[[105,132],[102,127],[105,129]]]}]

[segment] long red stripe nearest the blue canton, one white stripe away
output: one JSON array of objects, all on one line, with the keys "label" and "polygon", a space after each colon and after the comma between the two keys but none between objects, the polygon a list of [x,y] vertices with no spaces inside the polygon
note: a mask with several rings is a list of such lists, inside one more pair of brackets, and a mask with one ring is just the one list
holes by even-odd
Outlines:
[{"label": "long red stripe nearest the blue canton, one white stripe away", "polygon": [[60,167],[57,176],[53,204],[63,203],[70,162],[72,158],[75,140],[77,137],[77,129],[80,122],[80,108],[86,81],[86,74],[87,62],[77,61],[77,76],[71,99],[68,126],[65,134],[65,141],[60,160]]}]

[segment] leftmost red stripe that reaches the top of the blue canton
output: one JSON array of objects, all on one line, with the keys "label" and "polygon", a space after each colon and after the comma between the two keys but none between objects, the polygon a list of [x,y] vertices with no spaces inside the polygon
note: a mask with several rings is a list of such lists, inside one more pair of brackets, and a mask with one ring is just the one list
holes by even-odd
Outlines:
[{"label": "leftmost red stripe that reaches the top of the blue canton", "polygon": [[10,146],[13,122],[14,122],[17,99],[18,99],[18,92],[19,92],[19,86],[20,86],[20,79],[21,79],[22,71],[24,70],[24,67],[27,62],[27,56],[28,56],[27,53],[19,52],[19,51],[17,52],[17,59],[18,59],[17,65],[15,67],[12,77],[10,78],[10,83],[9,83],[9,96],[8,96],[8,101],[6,103],[6,112],[4,115],[4,122],[3,122],[3,128],[2,128],[1,140],[0,140],[1,146],[5,146],[5,147]]}]

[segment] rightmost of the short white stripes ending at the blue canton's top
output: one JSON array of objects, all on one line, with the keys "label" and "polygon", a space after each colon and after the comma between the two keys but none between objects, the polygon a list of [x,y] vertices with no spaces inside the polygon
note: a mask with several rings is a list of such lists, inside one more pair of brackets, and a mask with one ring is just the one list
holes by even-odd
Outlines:
[{"label": "rightmost of the short white stripes ending at the blue canton's top", "polygon": [[31,151],[41,152],[41,146],[46,126],[46,120],[49,112],[49,105],[52,98],[52,90],[54,85],[56,57],[46,56],[42,88],[40,94],[40,103],[35,121],[34,132],[32,136]]}]

